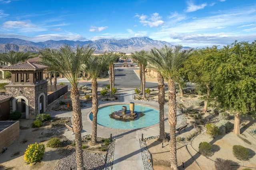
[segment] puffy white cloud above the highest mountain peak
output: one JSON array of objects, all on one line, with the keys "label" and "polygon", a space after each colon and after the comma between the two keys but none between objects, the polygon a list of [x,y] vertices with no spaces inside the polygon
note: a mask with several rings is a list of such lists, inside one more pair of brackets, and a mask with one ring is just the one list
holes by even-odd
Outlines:
[{"label": "puffy white cloud above the highest mountain peak", "polygon": [[162,17],[159,16],[158,13],[153,13],[150,15],[150,17],[144,14],[142,15],[136,14],[135,17],[138,17],[140,19],[140,23],[142,23],[144,26],[158,27],[164,24],[164,21],[161,20]]}]

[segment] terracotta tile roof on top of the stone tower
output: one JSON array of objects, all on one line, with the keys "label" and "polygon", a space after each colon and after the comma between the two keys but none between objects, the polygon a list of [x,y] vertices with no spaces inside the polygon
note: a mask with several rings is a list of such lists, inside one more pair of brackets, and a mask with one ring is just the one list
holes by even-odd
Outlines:
[{"label": "terracotta tile roof on top of the stone tower", "polygon": [[38,63],[32,63],[32,62],[24,62],[24,63],[18,63],[14,65],[10,65],[8,67],[4,67],[4,70],[38,70],[38,69],[46,69],[48,66],[38,64]]}]

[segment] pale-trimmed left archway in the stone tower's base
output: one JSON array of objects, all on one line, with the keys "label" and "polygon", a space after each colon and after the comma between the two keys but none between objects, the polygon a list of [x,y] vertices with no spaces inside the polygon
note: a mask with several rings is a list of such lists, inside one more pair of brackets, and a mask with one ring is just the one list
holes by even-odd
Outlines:
[{"label": "pale-trimmed left archway in the stone tower's base", "polygon": [[17,96],[12,100],[12,111],[20,111],[22,119],[29,119],[28,99],[24,96]]}]

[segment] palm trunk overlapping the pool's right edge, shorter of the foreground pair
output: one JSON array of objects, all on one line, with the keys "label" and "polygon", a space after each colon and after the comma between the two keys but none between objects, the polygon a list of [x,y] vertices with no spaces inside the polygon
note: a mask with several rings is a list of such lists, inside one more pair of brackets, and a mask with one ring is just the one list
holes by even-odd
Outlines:
[{"label": "palm trunk overlapping the pool's right edge, shorter of the foreground pair", "polygon": [[161,73],[157,74],[158,81],[158,104],[159,104],[159,139],[164,141],[164,77]]}]

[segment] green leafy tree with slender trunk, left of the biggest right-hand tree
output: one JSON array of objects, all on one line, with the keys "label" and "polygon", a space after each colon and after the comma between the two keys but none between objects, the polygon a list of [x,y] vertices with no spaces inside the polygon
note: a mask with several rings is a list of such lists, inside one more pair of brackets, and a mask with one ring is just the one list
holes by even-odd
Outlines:
[{"label": "green leafy tree with slender trunk, left of the biggest right-hand tree", "polygon": [[194,50],[185,61],[184,68],[191,82],[196,83],[204,99],[203,112],[207,112],[211,101],[210,91],[213,89],[214,75],[219,65],[217,46]]}]

